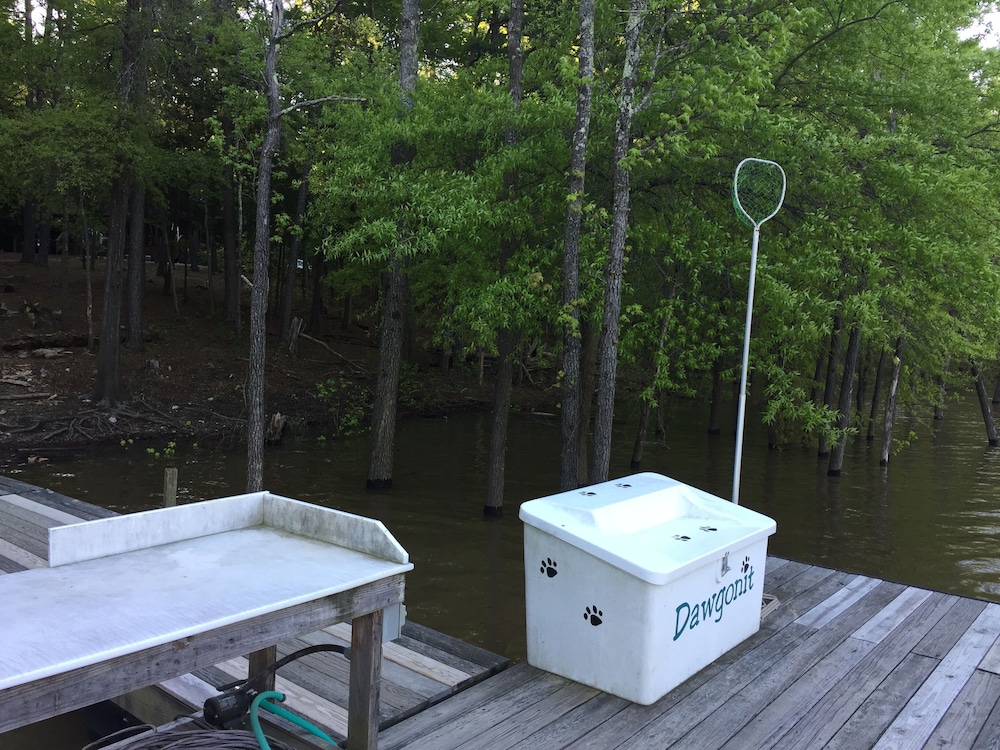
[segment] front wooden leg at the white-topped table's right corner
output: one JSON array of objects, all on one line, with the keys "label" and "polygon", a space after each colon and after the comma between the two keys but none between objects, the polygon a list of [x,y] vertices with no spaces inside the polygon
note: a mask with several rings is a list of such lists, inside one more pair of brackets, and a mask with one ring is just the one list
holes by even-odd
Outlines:
[{"label": "front wooden leg at the white-topped table's right corner", "polygon": [[378,747],[379,690],[382,680],[382,610],[351,622],[351,678],[347,704],[347,746]]}]

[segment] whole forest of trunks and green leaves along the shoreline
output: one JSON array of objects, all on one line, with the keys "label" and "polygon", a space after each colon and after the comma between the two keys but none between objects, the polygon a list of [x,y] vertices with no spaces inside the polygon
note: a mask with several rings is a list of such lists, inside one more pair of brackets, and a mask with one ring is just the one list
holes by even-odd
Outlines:
[{"label": "whole forest of trunks and green leaves along the shoreline", "polygon": [[[267,322],[296,285],[379,321],[368,486],[392,481],[404,340],[495,367],[487,514],[510,388],[558,371],[561,483],[635,460],[672,396],[740,380],[747,157],[760,227],[749,388],[774,446],[888,463],[904,404],[998,375],[1000,61],[979,0],[16,0],[0,20],[0,241],[106,258],[96,401],[142,346],[142,264],[251,297],[248,489]],[[978,32],[976,31],[978,29]],[[294,323],[294,325],[293,325]],[[309,321],[305,321],[308,331]],[[124,331],[119,337],[117,332]]]}]

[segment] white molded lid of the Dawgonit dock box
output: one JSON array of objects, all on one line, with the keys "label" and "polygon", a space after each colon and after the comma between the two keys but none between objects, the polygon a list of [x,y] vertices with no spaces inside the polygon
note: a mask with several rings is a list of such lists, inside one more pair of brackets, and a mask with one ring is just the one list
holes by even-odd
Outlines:
[{"label": "white molded lid of the Dawgonit dock box", "polygon": [[652,472],[530,500],[519,517],[654,585],[777,528],[765,515]]}]

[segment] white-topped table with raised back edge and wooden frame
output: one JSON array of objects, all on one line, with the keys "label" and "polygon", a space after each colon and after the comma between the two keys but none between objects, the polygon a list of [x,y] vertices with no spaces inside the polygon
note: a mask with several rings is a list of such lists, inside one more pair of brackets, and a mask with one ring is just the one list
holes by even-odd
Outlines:
[{"label": "white-topped table with raised back edge and wooden frame", "polygon": [[380,522],[251,493],[54,527],[49,564],[0,577],[0,732],[352,621],[348,736],[376,746],[413,567]]}]

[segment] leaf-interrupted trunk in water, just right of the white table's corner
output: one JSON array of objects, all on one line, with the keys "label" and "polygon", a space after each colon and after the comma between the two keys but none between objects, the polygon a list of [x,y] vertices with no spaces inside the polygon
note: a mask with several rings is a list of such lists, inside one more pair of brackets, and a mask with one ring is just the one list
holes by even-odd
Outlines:
[{"label": "leaf-interrupted trunk in water, just right of the white table's corner", "polygon": [[[413,108],[417,90],[417,35],[420,28],[419,0],[403,0],[399,50],[399,90],[404,109]],[[393,163],[403,165],[413,159],[412,144],[394,147]],[[405,234],[402,220],[397,231]],[[399,395],[399,371],[403,363],[403,334],[406,314],[406,277],[403,261],[389,262],[383,285],[382,332],[379,337],[379,368],[372,405],[371,447],[368,480],[371,490],[392,487],[393,449],[396,439],[396,401]]]}]

